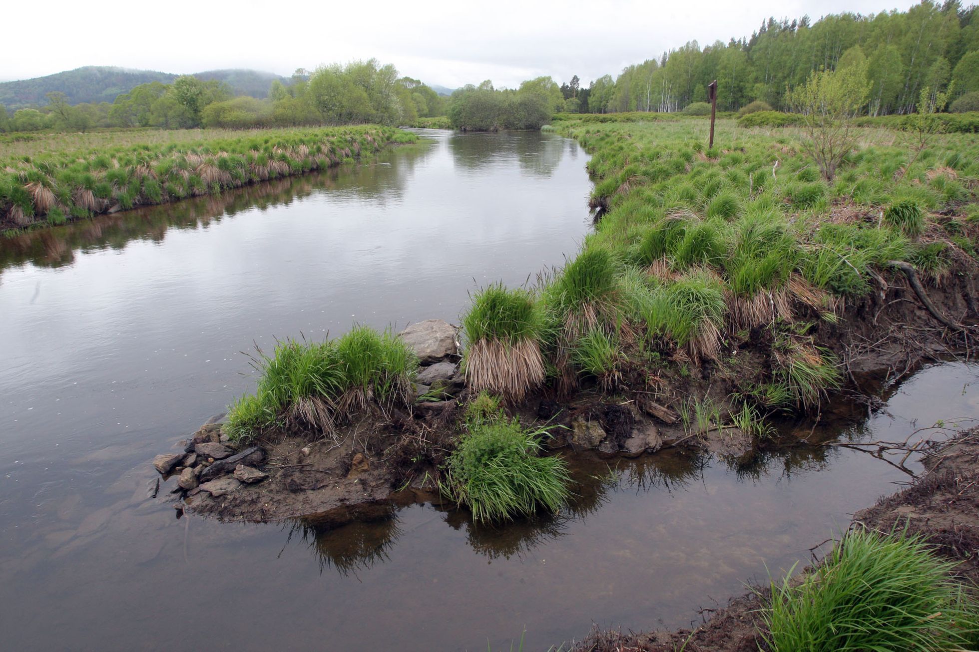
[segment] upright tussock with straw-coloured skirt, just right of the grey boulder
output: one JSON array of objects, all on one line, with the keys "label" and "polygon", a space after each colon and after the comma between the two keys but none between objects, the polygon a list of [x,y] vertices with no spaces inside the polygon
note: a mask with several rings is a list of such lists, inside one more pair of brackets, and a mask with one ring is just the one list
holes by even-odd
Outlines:
[{"label": "upright tussock with straw-coloured skirt, just right of the grey boulder", "polygon": [[462,330],[468,340],[463,367],[475,391],[519,400],[543,382],[543,328],[526,290],[501,283],[481,290],[462,317]]}]

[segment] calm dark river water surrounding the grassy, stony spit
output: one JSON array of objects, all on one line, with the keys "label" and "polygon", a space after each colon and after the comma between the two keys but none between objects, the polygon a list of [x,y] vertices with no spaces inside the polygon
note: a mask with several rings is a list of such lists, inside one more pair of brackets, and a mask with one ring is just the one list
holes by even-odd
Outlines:
[{"label": "calm dark river water surrounding the grassy, stony spit", "polygon": [[[583,462],[569,514],[500,530],[433,505],[332,532],[176,520],[147,497],[149,460],[251,388],[238,351],[454,321],[478,285],[577,248],[577,145],[428,133],[357,167],[0,242],[0,648],[495,650],[526,628],[536,650],[592,621],[683,626],[906,479],[846,449],[747,473],[670,454]],[[840,434],[979,414],[976,377],[927,368]]]}]

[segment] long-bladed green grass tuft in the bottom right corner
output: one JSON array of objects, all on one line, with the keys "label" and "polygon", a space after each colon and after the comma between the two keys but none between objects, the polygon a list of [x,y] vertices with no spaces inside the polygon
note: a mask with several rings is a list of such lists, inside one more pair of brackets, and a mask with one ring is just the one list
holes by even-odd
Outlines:
[{"label": "long-bladed green grass tuft in the bottom right corner", "polygon": [[951,570],[921,539],[853,530],[800,584],[772,582],[766,640],[773,652],[964,649],[974,607]]}]

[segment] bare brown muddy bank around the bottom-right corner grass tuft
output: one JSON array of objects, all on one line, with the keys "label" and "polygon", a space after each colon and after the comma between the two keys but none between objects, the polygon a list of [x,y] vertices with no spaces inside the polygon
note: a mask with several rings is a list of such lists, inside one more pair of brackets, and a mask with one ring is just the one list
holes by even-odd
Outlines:
[{"label": "bare brown muddy bank around the bottom-right corner grass tuft", "polygon": [[[936,555],[956,563],[955,576],[979,582],[979,429],[924,450],[925,472],[907,488],[860,510],[853,524],[882,533],[896,530],[923,537]],[[644,633],[592,629],[571,650],[583,652],[748,652],[767,649],[761,632],[769,589],[732,598],[723,608],[705,609],[694,629]]]}]

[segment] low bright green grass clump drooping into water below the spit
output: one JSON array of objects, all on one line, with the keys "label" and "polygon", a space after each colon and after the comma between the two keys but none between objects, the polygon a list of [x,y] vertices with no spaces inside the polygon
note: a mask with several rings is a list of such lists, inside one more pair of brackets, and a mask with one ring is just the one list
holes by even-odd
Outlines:
[{"label": "low bright green grass clump drooping into water below the spit", "polygon": [[557,512],[567,501],[571,478],[557,457],[541,457],[538,439],[517,420],[473,423],[445,463],[440,482],[451,500],[468,506],[473,519],[492,522]]}]

